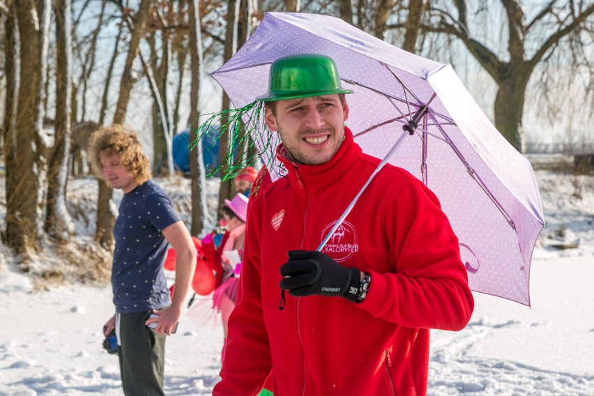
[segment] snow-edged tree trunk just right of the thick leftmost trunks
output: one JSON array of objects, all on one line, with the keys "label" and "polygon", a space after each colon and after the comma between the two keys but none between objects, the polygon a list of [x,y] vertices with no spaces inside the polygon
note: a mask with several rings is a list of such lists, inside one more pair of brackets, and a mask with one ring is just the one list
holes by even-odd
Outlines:
[{"label": "snow-edged tree trunk just right of the thick leftmost trunks", "polygon": [[66,208],[66,178],[70,153],[70,100],[72,77],[72,20],[70,0],[56,0],[56,120],[54,147],[47,173],[45,231],[67,241],[74,224]]}]

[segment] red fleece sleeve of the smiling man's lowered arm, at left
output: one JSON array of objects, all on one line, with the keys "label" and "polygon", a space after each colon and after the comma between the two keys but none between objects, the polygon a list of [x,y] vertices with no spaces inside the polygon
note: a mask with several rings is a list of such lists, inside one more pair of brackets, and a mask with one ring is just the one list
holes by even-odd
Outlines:
[{"label": "red fleece sleeve of the smiling man's lowered arm, at left", "polygon": [[[255,212],[255,213],[254,213]],[[213,395],[257,395],[272,370],[261,302],[257,207],[248,211],[237,304],[229,317],[227,347]]]}]

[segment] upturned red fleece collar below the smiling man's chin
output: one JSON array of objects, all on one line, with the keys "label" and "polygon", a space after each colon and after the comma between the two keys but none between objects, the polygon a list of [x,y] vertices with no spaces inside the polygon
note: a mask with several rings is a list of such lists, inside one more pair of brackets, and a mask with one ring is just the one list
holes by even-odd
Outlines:
[{"label": "upturned red fleece collar below the smiling man's chin", "polygon": [[344,141],[340,144],[338,151],[328,162],[321,165],[296,164],[288,160],[284,155],[284,146],[280,144],[277,147],[277,159],[287,168],[291,183],[305,183],[308,190],[317,191],[328,187],[342,174],[347,172],[355,163],[355,159],[363,151],[360,146],[353,141],[353,132],[346,126],[344,127]]}]

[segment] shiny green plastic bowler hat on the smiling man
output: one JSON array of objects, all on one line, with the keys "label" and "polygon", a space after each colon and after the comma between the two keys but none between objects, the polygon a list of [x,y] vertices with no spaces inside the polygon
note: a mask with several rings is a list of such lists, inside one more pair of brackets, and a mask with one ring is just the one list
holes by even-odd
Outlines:
[{"label": "shiny green plastic bowler hat on the smiling man", "polygon": [[303,54],[274,61],[268,93],[258,96],[256,100],[273,102],[333,93],[353,93],[340,85],[336,63],[328,56]]}]

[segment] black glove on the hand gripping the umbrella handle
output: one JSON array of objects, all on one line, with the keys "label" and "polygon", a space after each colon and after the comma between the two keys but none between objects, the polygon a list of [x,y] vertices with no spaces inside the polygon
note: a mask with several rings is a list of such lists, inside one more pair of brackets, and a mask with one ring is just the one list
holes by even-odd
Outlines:
[{"label": "black glove on the hand gripping the umbrella handle", "polygon": [[291,296],[343,296],[351,301],[358,298],[361,271],[341,266],[322,252],[291,251],[280,273],[280,288]]}]

